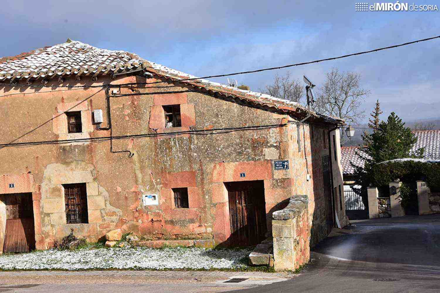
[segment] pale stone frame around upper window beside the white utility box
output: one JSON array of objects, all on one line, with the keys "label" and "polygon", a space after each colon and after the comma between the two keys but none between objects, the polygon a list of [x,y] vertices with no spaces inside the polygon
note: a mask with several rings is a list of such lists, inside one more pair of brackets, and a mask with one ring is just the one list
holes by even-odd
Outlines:
[{"label": "pale stone frame around upper window beside the white utility box", "polygon": [[[70,112],[81,113],[81,132],[69,132],[68,117]],[[59,140],[66,139],[88,139],[90,132],[93,132],[92,111],[87,101],[59,103],[56,113],[52,115],[53,132],[58,135]],[[70,145],[88,144],[89,142],[73,142]]]}]

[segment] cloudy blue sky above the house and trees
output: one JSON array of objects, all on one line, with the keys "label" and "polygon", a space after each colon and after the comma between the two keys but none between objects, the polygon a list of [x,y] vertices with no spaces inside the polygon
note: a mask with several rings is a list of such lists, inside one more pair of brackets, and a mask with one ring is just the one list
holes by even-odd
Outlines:
[{"label": "cloudy blue sky above the house and trees", "polygon": [[[7,1],[0,55],[67,38],[141,57],[198,76],[282,66],[440,35],[439,11],[355,11],[355,1]],[[404,2],[404,1],[402,1]],[[412,3],[412,2],[411,2]],[[410,3],[410,4],[411,4]],[[418,1],[415,4],[437,4]],[[440,7],[440,6],[439,6]],[[358,57],[291,68],[316,84],[332,67],[355,71],[385,112],[414,117],[440,106],[440,39]],[[258,90],[274,70],[235,77]],[[215,81],[226,83],[226,78]],[[432,104],[432,105],[423,105]],[[433,106],[434,105],[434,106]],[[405,110],[407,109],[407,110]],[[432,112],[432,111],[431,111]],[[435,116],[433,113],[426,117]],[[388,114],[388,113],[385,113]],[[385,117],[384,117],[385,118]]]}]

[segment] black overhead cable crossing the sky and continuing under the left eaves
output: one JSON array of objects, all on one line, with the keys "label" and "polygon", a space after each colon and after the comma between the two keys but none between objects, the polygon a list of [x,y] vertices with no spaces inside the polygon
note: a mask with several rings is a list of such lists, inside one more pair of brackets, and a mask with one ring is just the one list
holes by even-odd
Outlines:
[{"label": "black overhead cable crossing the sky and continuing under the left eaves", "polygon": [[[199,80],[199,79],[206,79],[206,78],[213,78],[213,77],[227,77],[227,76],[232,76],[232,75],[257,73],[257,72],[262,72],[262,71],[267,71],[267,70],[283,69],[283,68],[288,68],[288,67],[293,67],[293,66],[301,66],[301,65],[307,65],[307,64],[318,63],[318,62],[323,62],[323,61],[342,59],[342,58],[347,58],[347,57],[351,57],[351,56],[363,55],[363,54],[368,54],[368,53],[372,53],[372,52],[403,47],[403,46],[415,44],[418,42],[434,40],[434,39],[438,39],[438,38],[440,38],[440,36],[429,37],[429,38],[420,39],[420,40],[414,40],[414,41],[403,43],[403,44],[397,44],[397,45],[392,45],[392,46],[388,46],[388,47],[376,48],[376,49],[372,49],[372,50],[368,50],[368,51],[362,51],[362,52],[357,52],[357,53],[352,53],[352,54],[347,54],[347,55],[341,55],[341,56],[337,56],[337,57],[318,59],[318,60],[314,60],[314,61],[300,62],[300,63],[295,63],[295,64],[288,64],[288,65],[269,67],[269,68],[262,68],[262,69],[257,69],[257,70],[240,71],[240,72],[235,72],[235,73],[223,73],[223,74],[217,74],[217,75],[208,75],[208,76],[204,76],[204,77],[183,78],[183,79],[179,79],[179,81],[192,81],[192,80]],[[165,81],[127,83],[127,84],[103,84],[103,85],[88,85],[88,86],[50,86],[50,85],[26,85],[26,84],[13,85],[13,84],[4,84],[4,83],[0,83],[0,85],[25,86],[25,87],[35,87],[35,88],[44,88],[44,87],[47,87],[47,88],[81,88],[81,87],[82,88],[97,88],[97,87],[106,87],[106,86],[120,87],[120,86],[128,86],[128,85],[158,84],[158,83],[163,83],[163,82],[165,82]]]}]

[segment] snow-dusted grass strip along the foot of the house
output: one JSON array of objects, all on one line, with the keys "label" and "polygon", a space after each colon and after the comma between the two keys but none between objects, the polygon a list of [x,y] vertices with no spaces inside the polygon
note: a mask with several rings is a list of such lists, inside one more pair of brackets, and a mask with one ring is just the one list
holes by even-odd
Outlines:
[{"label": "snow-dusted grass strip along the foot of the house", "polygon": [[246,268],[249,249],[124,247],[0,255],[0,270]]}]

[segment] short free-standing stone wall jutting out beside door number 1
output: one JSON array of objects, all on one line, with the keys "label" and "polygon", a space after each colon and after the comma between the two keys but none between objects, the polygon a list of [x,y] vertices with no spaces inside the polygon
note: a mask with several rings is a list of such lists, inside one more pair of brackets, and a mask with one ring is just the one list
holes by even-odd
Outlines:
[{"label": "short free-standing stone wall jutting out beside door number 1", "polygon": [[307,195],[294,195],[285,209],[272,214],[275,271],[295,270],[310,259]]}]

